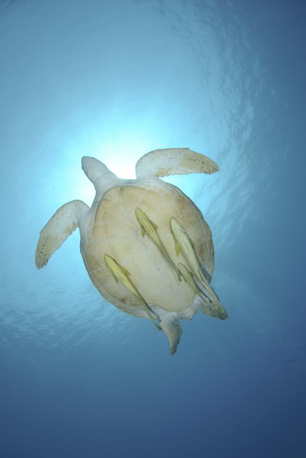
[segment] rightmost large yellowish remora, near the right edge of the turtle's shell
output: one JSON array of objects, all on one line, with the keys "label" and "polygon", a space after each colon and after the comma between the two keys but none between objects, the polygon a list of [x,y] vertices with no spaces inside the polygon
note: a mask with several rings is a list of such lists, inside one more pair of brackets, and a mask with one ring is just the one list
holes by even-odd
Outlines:
[{"label": "rightmost large yellowish remora, near the right edge of the turtle's shell", "polygon": [[176,255],[178,256],[179,252],[182,252],[183,256],[185,257],[190,269],[195,274],[196,278],[202,283],[203,287],[208,291],[208,293],[213,298],[211,302],[216,301],[220,304],[215,291],[212,290],[208,281],[202,273],[202,268],[194,249],[194,243],[188,237],[188,234],[182,227],[180,220],[170,218],[170,227],[174,237]]}]

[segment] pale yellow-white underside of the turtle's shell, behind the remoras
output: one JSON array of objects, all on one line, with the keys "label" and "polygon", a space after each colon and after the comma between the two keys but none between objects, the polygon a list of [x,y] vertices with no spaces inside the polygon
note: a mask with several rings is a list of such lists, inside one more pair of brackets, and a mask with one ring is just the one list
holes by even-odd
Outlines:
[{"label": "pale yellow-white underside of the turtle's shell, behind the remoras", "polygon": [[200,210],[175,186],[160,180],[158,185],[137,181],[112,187],[103,195],[81,238],[81,252],[91,281],[108,302],[135,316],[144,316],[137,299],[115,281],[105,265],[104,254],[108,254],[130,272],[131,281],[149,305],[168,311],[187,310],[195,293],[188,283],[178,280],[154,242],[141,235],[136,207],[158,226],[175,265],[186,261],[181,253],[178,257],[175,253],[169,220],[180,219],[194,241],[201,265],[212,275],[211,232]]}]

